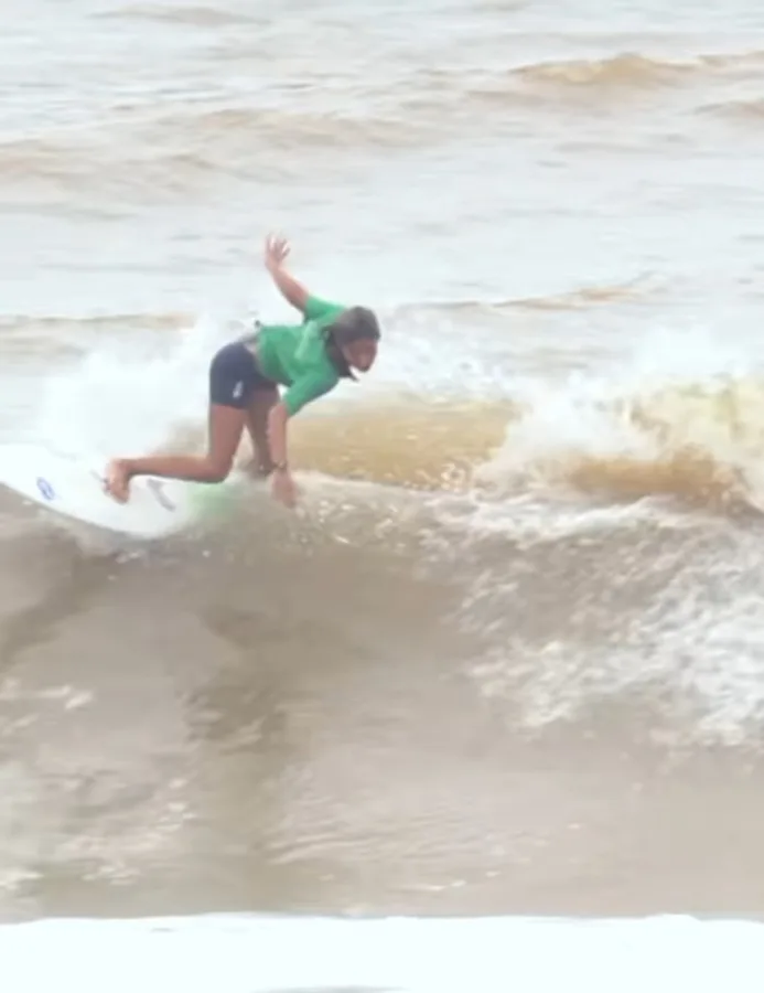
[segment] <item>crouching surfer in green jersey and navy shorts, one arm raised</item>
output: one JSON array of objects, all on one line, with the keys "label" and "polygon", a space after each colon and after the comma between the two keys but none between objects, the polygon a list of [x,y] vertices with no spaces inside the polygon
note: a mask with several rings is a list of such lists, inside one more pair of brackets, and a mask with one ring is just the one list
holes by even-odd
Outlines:
[{"label": "crouching surfer in green jersey and navy shorts, one arm raised", "polygon": [[[106,491],[125,503],[130,480],[158,476],[193,482],[223,482],[247,428],[255,471],[272,474],[272,492],[294,506],[297,490],[287,450],[287,424],[341,378],[368,372],[377,356],[379,324],[365,307],[345,308],[313,297],[284,268],[289,243],[266,239],[265,265],[284,299],[303,316],[300,324],[259,324],[223,345],[209,365],[207,452],[203,456],[118,458],[108,467]],[[283,395],[279,386],[287,387]]]}]

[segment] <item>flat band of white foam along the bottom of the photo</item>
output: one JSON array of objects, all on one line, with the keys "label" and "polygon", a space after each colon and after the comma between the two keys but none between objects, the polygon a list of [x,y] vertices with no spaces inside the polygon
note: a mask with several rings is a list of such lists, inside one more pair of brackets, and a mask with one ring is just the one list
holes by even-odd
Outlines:
[{"label": "flat band of white foam along the bottom of the photo", "polygon": [[0,927],[6,993],[761,993],[764,925],[218,915]]}]

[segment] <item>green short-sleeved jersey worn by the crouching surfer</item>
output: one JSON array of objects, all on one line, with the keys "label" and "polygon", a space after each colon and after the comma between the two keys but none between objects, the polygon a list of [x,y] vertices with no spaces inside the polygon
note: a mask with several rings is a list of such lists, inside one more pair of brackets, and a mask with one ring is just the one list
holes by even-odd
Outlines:
[{"label": "green short-sleeved jersey worn by the crouching surfer", "polygon": [[[263,376],[287,386],[281,402],[290,417],[340,382],[326,353],[323,330],[346,310],[318,297],[305,301],[302,324],[262,324],[256,338],[257,361]],[[255,339],[248,343],[254,344]]]}]

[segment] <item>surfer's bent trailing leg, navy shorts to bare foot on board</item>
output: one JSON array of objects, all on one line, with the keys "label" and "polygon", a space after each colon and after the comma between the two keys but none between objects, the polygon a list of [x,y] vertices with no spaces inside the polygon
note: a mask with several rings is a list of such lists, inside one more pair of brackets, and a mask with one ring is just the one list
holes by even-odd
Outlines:
[{"label": "surfer's bent trailing leg, navy shorts to bare foot on board", "polygon": [[222,482],[230,472],[241,440],[254,377],[252,356],[243,345],[234,343],[220,349],[209,367],[206,455],[115,459],[107,471],[107,492],[123,503],[128,499],[130,480],[136,476],[158,476],[190,482]]}]

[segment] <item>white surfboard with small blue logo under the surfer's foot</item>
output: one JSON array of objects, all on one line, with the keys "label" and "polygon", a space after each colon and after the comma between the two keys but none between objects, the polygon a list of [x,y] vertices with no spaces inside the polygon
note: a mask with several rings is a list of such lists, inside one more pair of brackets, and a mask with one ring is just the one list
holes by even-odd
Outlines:
[{"label": "white surfboard with small blue logo under the surfer's foot", "polygon": [[137,538],[177,533],[205,513],[220,508],[241,477],[206,485],[139,477],[130,499],[118,503],[104,492],[105,460],[42,445],[0,445],[0,485],[14,490],[53,513],[94,527]]}]

